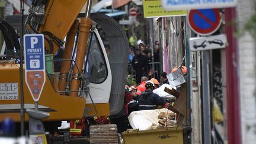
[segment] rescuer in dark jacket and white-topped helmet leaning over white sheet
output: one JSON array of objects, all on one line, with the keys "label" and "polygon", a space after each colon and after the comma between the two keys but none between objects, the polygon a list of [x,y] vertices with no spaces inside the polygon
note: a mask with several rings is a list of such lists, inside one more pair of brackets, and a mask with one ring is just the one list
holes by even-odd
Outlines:
[{"label": "rescuer in dark jacket and white-topped helmet leaning over white sheet", "polygon": [[164,107],[167,107],[169,105],[169,103],[167,103],[164,98],[159,97],[159,95],[152,92],[155,87],[153,82],[146,82],[145,87],[146,91],[142,92],[142,94],[139,95],[138,98],[138,110],[154,110],[156,109],[157,105],[162,105]]}]

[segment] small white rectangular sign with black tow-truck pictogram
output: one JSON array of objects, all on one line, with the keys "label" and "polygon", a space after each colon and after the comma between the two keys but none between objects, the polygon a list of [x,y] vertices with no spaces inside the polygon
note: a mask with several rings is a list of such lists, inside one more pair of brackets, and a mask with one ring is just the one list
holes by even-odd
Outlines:
[{"label": "small white rectangular sign with black tow-truck pictogram", "polygon": [[225,34],[210,37],[194,37],[189,40],[191,51],[222,49],[226,47],[226,44]]}]

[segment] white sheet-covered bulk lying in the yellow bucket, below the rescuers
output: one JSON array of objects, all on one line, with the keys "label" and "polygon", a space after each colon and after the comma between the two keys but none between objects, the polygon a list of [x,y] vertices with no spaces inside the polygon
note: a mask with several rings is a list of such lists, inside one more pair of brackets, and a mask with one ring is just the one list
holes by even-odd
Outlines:
[{"label": "white sheet-covered bulk lying in the yellow bucket, below the rescuers", "polygon": [[[162,108],[156,110],[133,111],[130,113],[128,119],[133,129],[148,130],[151,129],[152,124],[155,124],[155,126],[159,125],[159,113],[167,113],[167,110],[167,108]],[[168,113],[172,113],[172,111],[168,110]]]}]

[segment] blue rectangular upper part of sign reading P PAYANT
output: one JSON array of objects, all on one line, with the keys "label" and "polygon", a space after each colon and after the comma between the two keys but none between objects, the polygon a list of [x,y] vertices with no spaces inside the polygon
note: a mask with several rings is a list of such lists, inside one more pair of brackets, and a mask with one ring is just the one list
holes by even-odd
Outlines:
[{"label": "blue rectangular upper part of sign reading P PAYANT", "polygon": [[44,71],[44,35],[24,35],[24,55],[26,71]]}]

